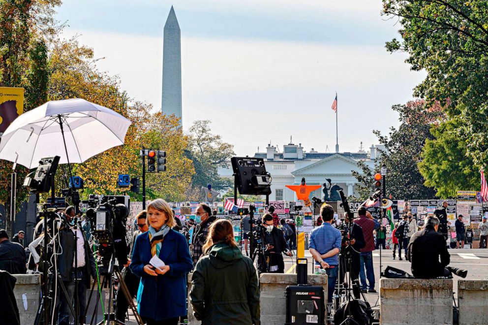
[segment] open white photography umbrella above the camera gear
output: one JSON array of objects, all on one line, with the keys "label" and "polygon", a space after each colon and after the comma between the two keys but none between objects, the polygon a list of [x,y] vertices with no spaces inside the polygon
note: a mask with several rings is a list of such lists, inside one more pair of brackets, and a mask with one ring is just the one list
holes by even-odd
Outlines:
[{"label": "open white photography umbrella above the camera gear", "polygon": [[59,163],[81,163],[124,143],[131,122],[85,99],[48,101],[30,110],[0,138],[0,159],[35,168],[45,157]]}]

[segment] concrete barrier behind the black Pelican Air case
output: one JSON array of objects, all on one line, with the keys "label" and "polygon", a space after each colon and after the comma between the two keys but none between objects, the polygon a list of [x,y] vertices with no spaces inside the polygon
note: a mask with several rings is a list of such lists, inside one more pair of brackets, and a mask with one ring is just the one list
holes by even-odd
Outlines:
[{"label": "concrete barrier behind the black Pelican Air case", "polygon": [[[261,324],[283,325],[285,323],[285,290],[297,284],[296,274],[263,273],[259,278]],[[308,284],[324,287],[324,310],[327,310],[327,275],[308,275]]]}]

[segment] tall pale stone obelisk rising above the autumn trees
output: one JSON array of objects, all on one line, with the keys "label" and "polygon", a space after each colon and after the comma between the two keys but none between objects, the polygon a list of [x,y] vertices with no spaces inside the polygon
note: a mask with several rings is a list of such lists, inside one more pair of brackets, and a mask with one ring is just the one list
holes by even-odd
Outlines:
[{"label": "tall pale stone obelisk rising above the autumn trees", "polygon": [[181,35],[173,6],[164,25],[161,111],[166,115],[175,114],[179,118],[182,117]]}]

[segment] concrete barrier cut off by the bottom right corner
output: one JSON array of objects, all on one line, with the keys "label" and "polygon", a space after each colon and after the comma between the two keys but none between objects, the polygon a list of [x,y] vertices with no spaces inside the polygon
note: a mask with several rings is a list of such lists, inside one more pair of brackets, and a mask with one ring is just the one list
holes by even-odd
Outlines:
[{"label": "concrete barrier cut off by the bottom right corner", "polygon": [[488,324],[488,281],[458,280],[459,325]]}]

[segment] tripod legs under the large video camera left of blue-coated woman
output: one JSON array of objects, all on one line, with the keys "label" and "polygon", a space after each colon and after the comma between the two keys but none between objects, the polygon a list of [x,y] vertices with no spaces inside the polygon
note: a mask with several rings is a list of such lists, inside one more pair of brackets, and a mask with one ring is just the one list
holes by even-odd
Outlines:
[{"label": "tripod legs under the large video camera left of blue-coated woman", "polygon": [[[141,316],[139,315],[139,313],[137,312],[137,308],[135,307],[134,305],[134,302],[132,301],[132,297],[130,295],[130,292],[129,290],[127,289],[127,286],[125,284],[125,281],[123,280],[123,277],[122,277],[122,273],[119,269],[119,267],[117,265],[114,265],[115,264],[115,252],[112,253],[111,257],[110,257],[110,262],[109,262],[109,266],[108,266],[108,269],[106,272],[104,272],[103,274],[103,281],[101,283],[101,287],[98,287],[98,290],[97,291],[100,291],[101,288],[104,288],[106,286],[108,286],[109,288],[109,296],[108,296],[108,310],[107,310],[107,313],[104,313],[104,321],[101,321],[99,322],[97,325],[110,325],[110,324],[120,324],[120,325],[124,325],[124,323],[122,323],[121,321],[117,320],[116,317],[115,317],[115,313],[112,312],[112,307],[115,303],[115,298],[114,298],[114,280],[115,280],[115,275],[117,276],[117,279],[119,279],[119,286],[121,286],[122,288],[122,293],[123,295],[125,296],[125,299],[127,300],[127,304],[129,305],[130,309],[132,310],[132,313],[134,314],[134,317],[136,318],[136,321],[137,321],[137,324],[139,325],[143,325],[144,322],[142,321],[142,318]],[[87,306],[90,305],[90,301],[91,301],[91,297],[93,295],[93,292],[94,292],[94,288],[95,288],[95,284],[97,282],[93,282],[93,284],[91,285],[91,290],[90,290],[90,296],[88,298],[88,303],[87,303]],[[95,304],[95,308],[93,309],[93,314],[91,316],[91,322],[90,322],[90,325],[92,325],[93,323],[93,320],[95,319],[95,315],[96,315],[96,312],[98,310],[98,301],[99,299],[101,299],[100,295],[97,294],[97,300],[96,300],[96,304]],[[85,309],[85,316],[84,318],[87,316],[87,312],[88,312],[88,308]]]}]

